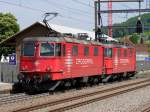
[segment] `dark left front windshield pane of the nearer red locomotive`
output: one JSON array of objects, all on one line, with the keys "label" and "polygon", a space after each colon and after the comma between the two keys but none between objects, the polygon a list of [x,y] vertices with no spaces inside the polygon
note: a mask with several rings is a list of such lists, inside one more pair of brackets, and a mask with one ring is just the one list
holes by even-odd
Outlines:
[{"label": "dark left front windshield pane of the nearer red locomotive", "polygon": [[35,43],[34,42],[26,42],[22,46],[22,55],[23,56],[34,56],[35,52]]}]

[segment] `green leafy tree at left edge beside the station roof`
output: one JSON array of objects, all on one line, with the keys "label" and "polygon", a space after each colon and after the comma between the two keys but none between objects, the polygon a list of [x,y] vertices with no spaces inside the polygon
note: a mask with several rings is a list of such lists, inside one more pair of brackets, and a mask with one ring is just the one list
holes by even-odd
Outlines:
[{"label": "green leafy tree at left edge beside the station roof", "polygon": [[[0,42],[9,38],[19,31],[19,24],[17,19],[11,13],[0,13]],[[0,57],[1,55],[8,55],[15,51],[15,46],[13,47],[0,47]]]}]

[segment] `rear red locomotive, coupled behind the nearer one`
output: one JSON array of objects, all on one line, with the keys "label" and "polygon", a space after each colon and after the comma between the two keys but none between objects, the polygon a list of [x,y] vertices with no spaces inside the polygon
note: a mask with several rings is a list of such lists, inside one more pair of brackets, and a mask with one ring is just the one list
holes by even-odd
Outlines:
[{"label": "rear red locomotive, coupled behind the nearer one", "polygon": [[135,48],[129,45],[104,45],[105,81],[113,77],[132,77],[136,73]]}]

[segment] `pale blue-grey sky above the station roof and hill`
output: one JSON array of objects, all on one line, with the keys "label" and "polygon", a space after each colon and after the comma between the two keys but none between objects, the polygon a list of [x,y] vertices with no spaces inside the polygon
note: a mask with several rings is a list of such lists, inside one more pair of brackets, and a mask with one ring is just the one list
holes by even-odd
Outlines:
[{"label": "pale blue-grey sky above the station roof and hill", "polygon": [[[94,28],[93,4],[93,0],[0,0],[0,12],[14,14],[21,29],[36,21],[42,21],[44,12],[58,12],[59,16],[50,23],[92,30]],[[146,0],[142,3],[142,7],[146,7]],[[138,8],[138,3],[113,3],[113,9],[129,8]],[[102,9],[106,10],[107,4],[102,4]],[[125,21],[135,15],[138,14],[114,14],[113,23]],[[103,24],[107,25],[107,14],[103,14],[102,18]]]}]

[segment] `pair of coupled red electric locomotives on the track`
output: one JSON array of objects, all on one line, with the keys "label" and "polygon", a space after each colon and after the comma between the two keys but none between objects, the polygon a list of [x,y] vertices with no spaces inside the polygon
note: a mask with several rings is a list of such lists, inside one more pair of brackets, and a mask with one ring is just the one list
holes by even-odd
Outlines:
[{"label": "pair of coupled red electric locomotives on the track", "polygon": [[70,37],[25,38],[14,88],[55,90],[60,85],[99,83],[133,76],[135,66],[135,49],[130,46]]}]

